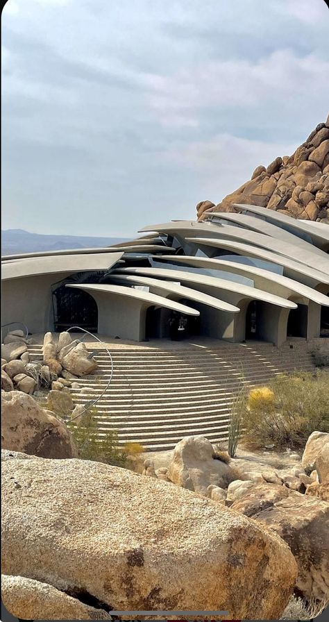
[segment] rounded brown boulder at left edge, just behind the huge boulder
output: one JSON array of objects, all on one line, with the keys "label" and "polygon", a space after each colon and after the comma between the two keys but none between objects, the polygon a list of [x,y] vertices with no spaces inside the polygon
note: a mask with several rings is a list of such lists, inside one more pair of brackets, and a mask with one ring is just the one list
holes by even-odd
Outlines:
[{"label": "rounded brown boulder at left edge, just behind the huge boulder", "polygon": [[78,456],[65,423],[41,408],[31,395],[20,391],[3,392],[1,401],[3,449],[47,458]]}]

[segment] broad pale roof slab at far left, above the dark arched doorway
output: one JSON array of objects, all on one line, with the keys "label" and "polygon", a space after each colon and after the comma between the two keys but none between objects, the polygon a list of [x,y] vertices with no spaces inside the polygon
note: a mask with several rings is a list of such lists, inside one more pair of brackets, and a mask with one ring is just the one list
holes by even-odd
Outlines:
[{"label": "broad pale roof slab at far left, above the dark arched doorway", "polygon": [[90,255],[54,255],[13,260],[2,264],[1,279],[108,270],[114,266],[124,253],[93,253]]}]

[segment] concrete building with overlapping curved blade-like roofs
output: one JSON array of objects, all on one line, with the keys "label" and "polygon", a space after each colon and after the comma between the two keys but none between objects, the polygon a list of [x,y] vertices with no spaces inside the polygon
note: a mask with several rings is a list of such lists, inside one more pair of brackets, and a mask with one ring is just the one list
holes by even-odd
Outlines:
[{"label": "concrete building with overlapping curved blade-like roofs", "polygon": [[147,226],[104,249],[2,260],[2,324],[281,346],[329,335],[329,226],[255,205]]}]

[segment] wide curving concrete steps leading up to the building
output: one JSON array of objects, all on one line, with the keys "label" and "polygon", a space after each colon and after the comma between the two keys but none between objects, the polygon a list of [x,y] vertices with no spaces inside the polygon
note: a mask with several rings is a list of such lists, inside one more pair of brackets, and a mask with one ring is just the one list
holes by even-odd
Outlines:
[{"label": "wide curving concrete steps leading up to the building", "polygon": [[[165,344],[164,344],[165,346]],[[278,373],[314,369],[304,340],[281,348],[248,342],[175,348],[109,346],[114,373],[96,405],[100,435],[114,428],[121,443],[139,442],[147,450],[173,448],[187,435],[212,442],[228,437],[230,404],[242,387],[262,384]],[[90,348],[93,351],[93,348]],[[42,358],[41,346],[30,346],[31,358]],[[85,393],[71,389],[74,402],[85,404],[106,387],[111,364],[97,349],[99,369],[77,380]]]}]

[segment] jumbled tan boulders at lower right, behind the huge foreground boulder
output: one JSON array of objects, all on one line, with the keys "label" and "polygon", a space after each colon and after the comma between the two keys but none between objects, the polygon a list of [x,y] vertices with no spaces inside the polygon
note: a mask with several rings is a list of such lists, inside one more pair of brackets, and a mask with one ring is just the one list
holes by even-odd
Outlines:
[{"label": "jumbled tan boulders at lower right, behind the huge foreground boulder", "polygon": [[295,592],[329,601],[329,434],[313,432],[295,466],[237,471],[208,439],[187,437],[167,469],[146,460],[144,475],[196,491],[221,507],[259,521],[286,541],[298,565]]}]

